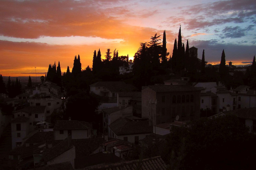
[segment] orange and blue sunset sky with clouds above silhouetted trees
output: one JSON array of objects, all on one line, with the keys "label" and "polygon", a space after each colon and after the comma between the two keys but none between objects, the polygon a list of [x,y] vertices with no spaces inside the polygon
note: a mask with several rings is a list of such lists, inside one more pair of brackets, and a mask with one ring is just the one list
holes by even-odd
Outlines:
[{"label": "orange and blue sunset sky with clouds above silhouetted trees", "polygon": [[246,65],[256,54],[255,0],[0,0],[0,74],[37,76],[60,61],[61,71],[92,66],[94,50],[107,48],[133,59],[140,42],[166,30],[172,54],[182,42],[205,50],[205,60]]}]

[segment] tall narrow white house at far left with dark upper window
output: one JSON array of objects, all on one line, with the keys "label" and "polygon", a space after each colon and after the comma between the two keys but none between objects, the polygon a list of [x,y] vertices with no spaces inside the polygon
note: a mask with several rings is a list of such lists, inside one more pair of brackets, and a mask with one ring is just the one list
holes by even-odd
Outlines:
[{"label": "tall narrow white house at far left with dark upper window", "polygon": [[29,134],[29,118],[20,116],[11,120],[12,149],[21,145],[22,139]]}]

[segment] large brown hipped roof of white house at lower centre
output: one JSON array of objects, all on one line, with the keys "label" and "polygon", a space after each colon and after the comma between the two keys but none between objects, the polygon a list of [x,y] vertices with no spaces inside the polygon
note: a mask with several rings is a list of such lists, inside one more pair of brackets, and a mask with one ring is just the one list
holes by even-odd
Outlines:
[{"label": "large brown hipped roof of white house at lower centre", "polygon": [[109,125],[116,135],[152,133],[153,127],[149,121],[127,121],[119,118]]}]

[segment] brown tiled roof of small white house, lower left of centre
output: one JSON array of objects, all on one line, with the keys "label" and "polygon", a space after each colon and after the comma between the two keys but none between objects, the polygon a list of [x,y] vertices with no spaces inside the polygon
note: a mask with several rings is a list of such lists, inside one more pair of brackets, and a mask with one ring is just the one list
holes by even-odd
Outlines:
[{"label": "brown tiled roof of small white house, lower left of centre", "polygon": [[91,127],[84,121],[56,121],[53,130],[83,130]]}]

